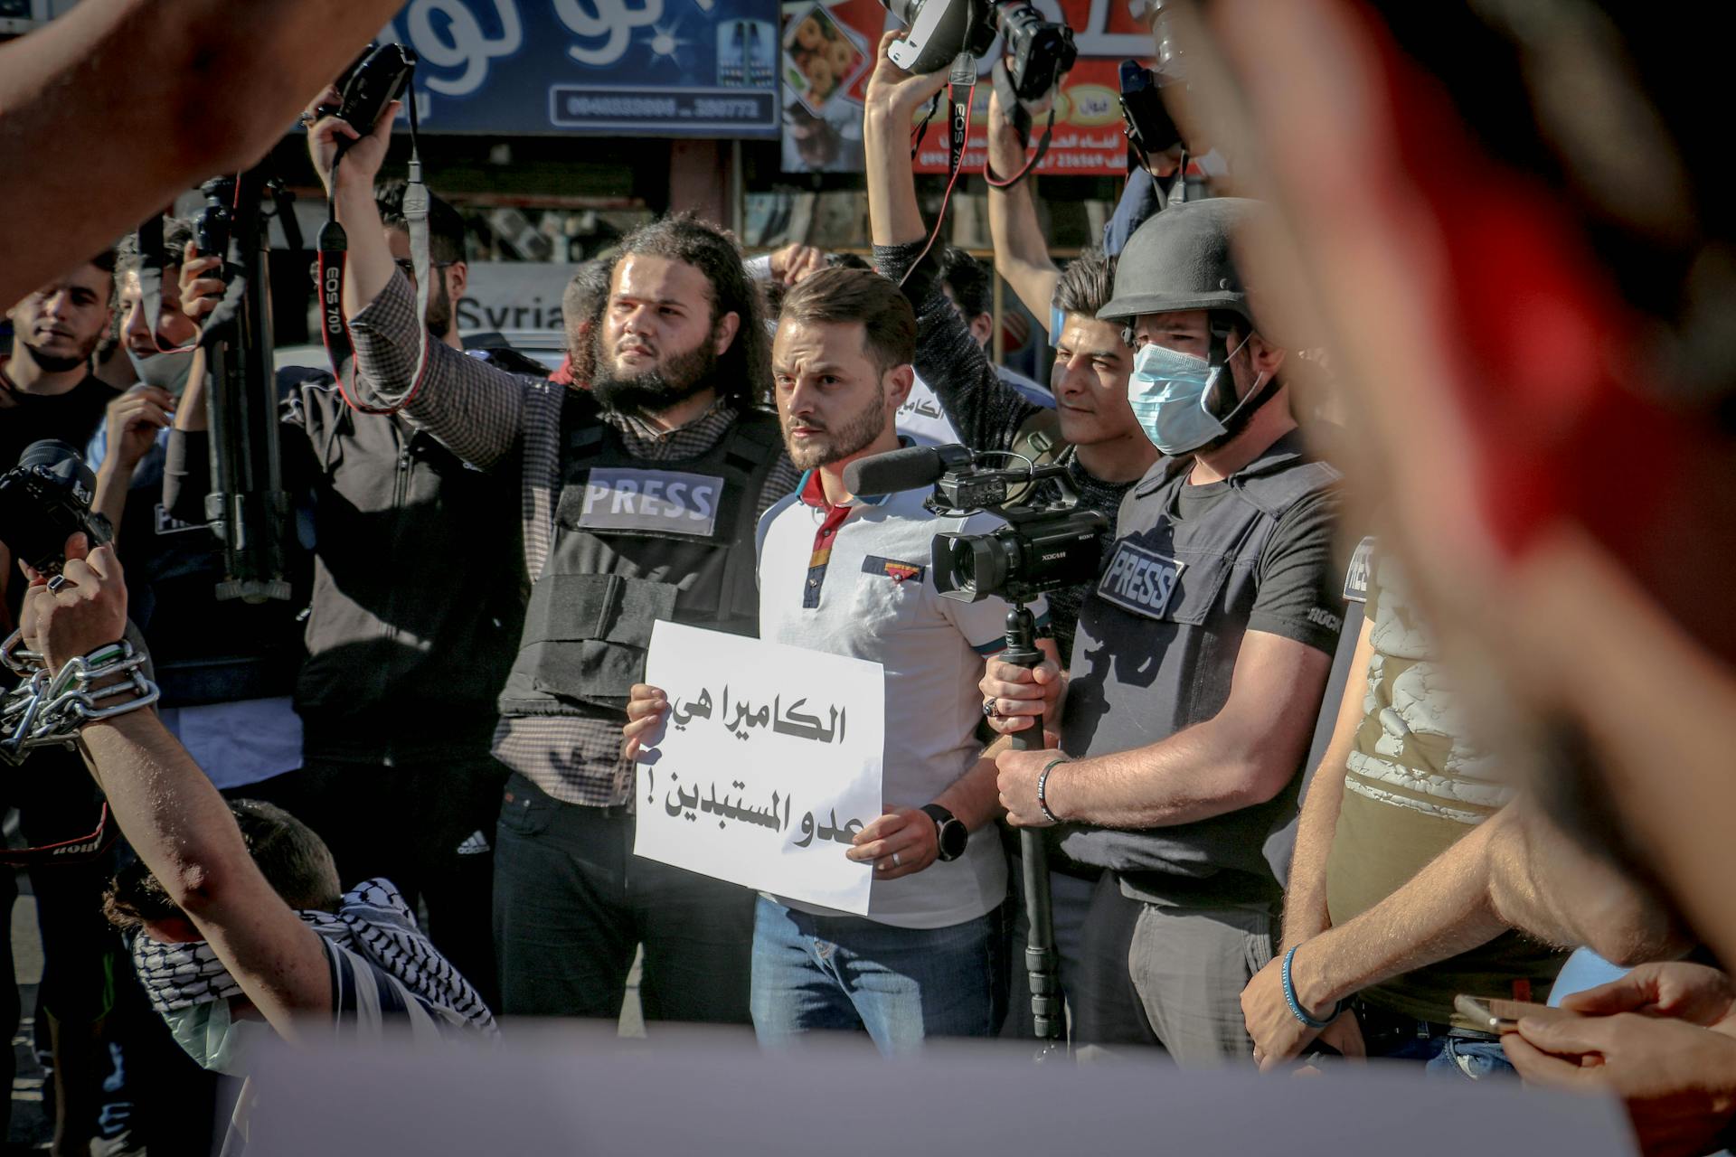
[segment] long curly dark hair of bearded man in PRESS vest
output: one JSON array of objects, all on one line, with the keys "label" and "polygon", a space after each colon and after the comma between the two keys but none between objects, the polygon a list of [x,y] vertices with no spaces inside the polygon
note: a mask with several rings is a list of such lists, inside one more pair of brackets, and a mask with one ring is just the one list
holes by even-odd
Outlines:
[{"label": "long curly dark hair of bearded man in PRESS vest", "polygon": [[621,239],[621,248],[609,267],[609,284],[615,271],[627,257],[663,257],[698,269],[712,286],[712,326],[724,314],[736,314],[741,324],[729,349],[717,359],[717,394],[738,408],[748,408],[771,399],[771,342],[760,312],[759,290],[741,265],[741,246],[734,234],[693,213],[670,213],[639,226]]}]

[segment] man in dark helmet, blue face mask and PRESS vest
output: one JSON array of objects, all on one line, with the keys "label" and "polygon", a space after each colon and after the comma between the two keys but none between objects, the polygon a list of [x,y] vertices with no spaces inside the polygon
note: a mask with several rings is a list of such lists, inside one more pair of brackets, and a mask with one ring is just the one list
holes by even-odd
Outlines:
[{"label": "man in dark helmet, blue face mask and PRESS vest", "polygon": [[1259,208],[1175,205],[1128,241],[1099,317],[1128,326],[1134,415],[1165,458],[1121,501],[1069,678],[983,680],[998,730],[1061,720],[1061,751],[1000,755],[1009,819],[1062,824],[1062,852],[1106,869],[1078,1037],[1186,1065],[1252,1055],[1238,996],[1279,900],[1264,845],[1293,814],[1342,626],[1338,472],[1302,446],[1285,350],[1231,257]]}]

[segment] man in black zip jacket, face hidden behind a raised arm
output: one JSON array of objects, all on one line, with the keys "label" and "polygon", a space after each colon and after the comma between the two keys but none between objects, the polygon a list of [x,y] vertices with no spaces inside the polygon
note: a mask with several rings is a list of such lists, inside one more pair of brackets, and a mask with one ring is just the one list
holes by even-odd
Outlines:
[{"label": "man in black zip jacket, face hidden behind a raised arm", "polygon": [[[403,201],[403,182],[373,191],[377,220],[368,232],[410,279]],[[358,232],[351,232],[352,245]],[[431,196],[434,284],[425,324],[429,343],[453,357],[462,357],[453,302],[465,290],[464,243],[464,219]],[[222,291],[217,264],[189,250],[182,265],[182,300],[198,316]],[[385,876],[411,907],[425,904],[434,944],[493,999],[491,836],[505,768],[488,744],[493,696],[524,618],[517,527],[500,517],[514,479],[472,470],[401,416],[351,409],[330,373],[285,369],[278,390],[283,487],[304,503],[302,545],[312,546],[307,657],[293,678],[300,760],[290,763],[295,770],[276,774],[285,772],[279,765],[267,772],[271,779],[252,782],[264,768],[262,753],[236,741],[248,732],[227,732],[224,758],[212,758],[186,732],[182,741],[219,786],[248,784],[248,796],[281,805],[319,833],[347,878]],[[200,376],[175,411],[163,487],[167,519],[200,534],[208,463]],[[377,565],[380,557],[392,565]],[[436,574],[441,581],[418,581]],[[219,607],[224,616],[259,611]],[[155,656],[161,644],[146,631]],[[208,652],[233,642],[222,635],[234,631],[203,633],[203,647],[181,640],[174,654]],[[167,697],[167,680],[163,690]],[[288,687],[214,683],[203,690],[217,696],[203,699],[212,703],[286,694]],[[177,703],[189,701],[177,696]],[[382,814],[391,819],[382,822]]]}]

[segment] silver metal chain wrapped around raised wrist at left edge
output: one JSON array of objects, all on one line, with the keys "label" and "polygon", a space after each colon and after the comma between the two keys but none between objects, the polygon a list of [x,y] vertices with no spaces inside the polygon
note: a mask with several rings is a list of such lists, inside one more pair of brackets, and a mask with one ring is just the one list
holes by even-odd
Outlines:
[{"label": "silver metal chain wrapped around raised wrist at left edge", "polygon": [[[23,763],[36,748],[73,748],[85,723],[148,708],[160,694],[141,670],[144,652],[127,640],[69,659],[50,675],[42,656],[24,649],[23,631],[12,631],[0,644],[0,663],[24,677],[0,701],[0,758],[9,763]],[[97,687],[111,678],[116,682]]]}]

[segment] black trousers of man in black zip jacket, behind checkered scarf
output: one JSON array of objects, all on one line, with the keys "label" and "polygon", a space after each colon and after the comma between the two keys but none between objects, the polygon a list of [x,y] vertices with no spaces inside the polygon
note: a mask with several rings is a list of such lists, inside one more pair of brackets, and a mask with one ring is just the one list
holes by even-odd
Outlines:
[{"label": "black trousers of man in black zip jacket, behind checkered scarf", "polygon": [[311,758],[226,794],[276,803],[312,827],[345,888],[385,876],[411,911],[425,905],[434,947],[500,1008],[490,909],[505,777],[486,753],[396,765]]}]

